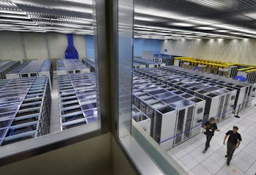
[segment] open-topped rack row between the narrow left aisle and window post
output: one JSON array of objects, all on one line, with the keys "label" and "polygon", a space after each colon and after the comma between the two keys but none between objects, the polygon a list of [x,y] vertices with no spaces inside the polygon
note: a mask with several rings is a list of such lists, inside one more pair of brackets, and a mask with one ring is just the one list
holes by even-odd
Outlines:
[{"label": "open-topped rack row between the narrow left aisle and window post", "polygon": [[95,74],[59,75],[61,130],[98,122]]}]

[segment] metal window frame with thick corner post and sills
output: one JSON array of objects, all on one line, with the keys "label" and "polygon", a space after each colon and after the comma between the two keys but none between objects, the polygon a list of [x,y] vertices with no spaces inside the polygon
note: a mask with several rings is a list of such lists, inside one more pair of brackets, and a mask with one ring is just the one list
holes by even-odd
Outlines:
[{"label": "metal window frame with thick corner post and sills", "polygon": [[[125,1],[125,0],[122,0]],[[134,0],[128,0],[134,4]],[[60,133],[46,135],[36,140],[30,139],[26,142],[19,142],[12,145],[15,151],[9,154],[7,150],[0,149],[0,166],[14,163],[38,154],[50,152],[63,146],[75,144],[78,141],[95,137],[111,132],[118,146],[131,163],[137,174],[164,174],[142,149],[141,146],[131,135],[131,116],[126,117],[128,123],[126,130],[120,135],[120,116],[119,116],[119,62],[118,62],[118,3],[117,0],[96,0],[94,1],[93,17],[97,21],[95,28],[95,65],[96,79],[98,78],[98,104],[100,110],[98,117],[100,122],[89,124],[86,128],[74,127]],[[97,11],[97,13],[96,13]],[[134,10],[131,10],[134,17]],[[134,18],[132,18],[134,21]],[[95,23],[94,23],[95,25]],[[133,32],[133,26],[131,32]],[[131,36],[131,44],[132,46]],[[132,63],[132,57],[129,58]],[[131,64],[132,66],[132,64]],[[131,72],[130,72],[131,73]],[[132,82],[132,77],[129,79]],[[132,87],[131,87],[132,91]],[[95,130],[95,128],[100,129]],[[122,136],[122,137],[120,137]],[[23,149],[20,148],[23,147]],[[143,157],[143,161],[142,161]]]}]

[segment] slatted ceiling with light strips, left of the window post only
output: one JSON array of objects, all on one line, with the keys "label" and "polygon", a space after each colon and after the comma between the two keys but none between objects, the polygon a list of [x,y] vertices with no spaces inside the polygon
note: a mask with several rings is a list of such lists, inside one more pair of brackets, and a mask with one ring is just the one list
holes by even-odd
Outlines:
[{"label": "slatted ceiling with light strips, left of the window post only", "polygon": [[93,34],[92,0],[0,0],[0,30]]}]

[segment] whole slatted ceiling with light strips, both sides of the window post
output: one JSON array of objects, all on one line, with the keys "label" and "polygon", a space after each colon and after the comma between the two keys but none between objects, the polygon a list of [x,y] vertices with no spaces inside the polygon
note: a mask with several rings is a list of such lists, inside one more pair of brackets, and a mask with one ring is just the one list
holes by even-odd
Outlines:
[{"label": "whole slatted ceiling with light strips, both sides of the window post", "polygon": [[[0,0],[0,30],[93,34],[94,0]],[[256,38],[256,0],[135,0],[134,37]]]}]

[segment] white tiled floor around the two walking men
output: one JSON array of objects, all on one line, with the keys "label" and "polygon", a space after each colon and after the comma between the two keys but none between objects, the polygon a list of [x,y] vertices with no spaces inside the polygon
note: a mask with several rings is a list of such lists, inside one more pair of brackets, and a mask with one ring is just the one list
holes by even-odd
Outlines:
[{"label": "white tiled floor around the two walking men", "polygon": [[[255,104],[256,101],[253,101]],[[200,134],[184,142],[167,153],[191,175],[255,175],[256,174],[256,106],[252,105],[239,113],[240,119],[233,116],[218,124],[221,132],[216,132],[211,141],[211,147],[203,154],[205,135]],[[235,150],[230,166],[226,165],[224,155],[227,146],[224,146],[224,134],[239,127],[241,145]]]}]

